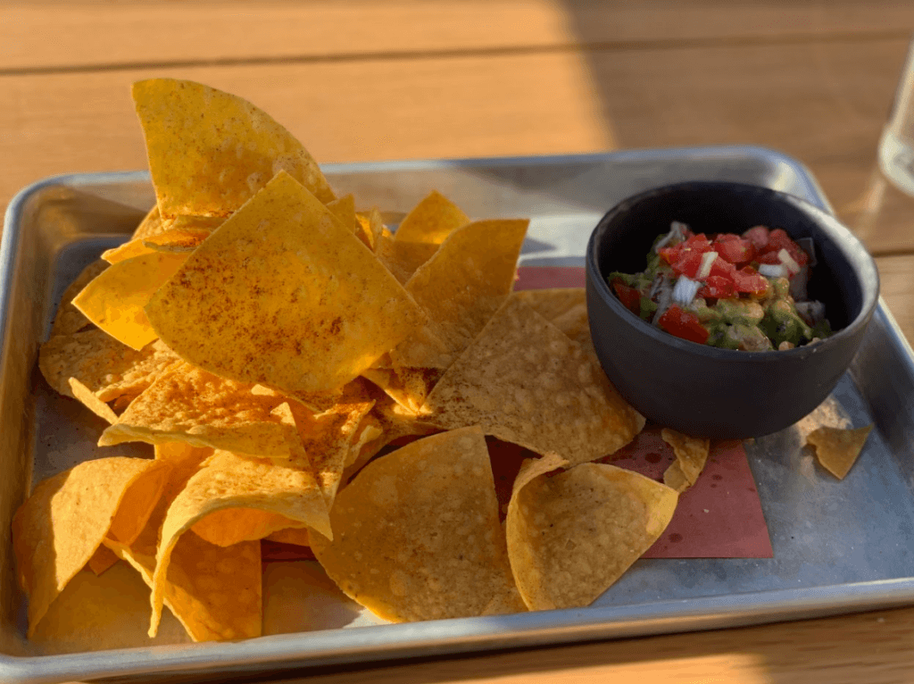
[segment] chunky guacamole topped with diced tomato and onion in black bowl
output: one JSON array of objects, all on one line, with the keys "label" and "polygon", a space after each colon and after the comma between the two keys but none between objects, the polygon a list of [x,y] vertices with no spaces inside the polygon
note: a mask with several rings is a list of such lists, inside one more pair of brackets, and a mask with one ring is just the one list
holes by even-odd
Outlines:
[{"label": "chunky guacamole topped with diced tomato and onion in black bowl", "polygon": [[610,273],[626,308],[698,344],[746,351],[792,349],[831,335],[821,302],[806,294],[814,265],[781,229],[706,235],[674,221],[654,240],[642,273]]}]

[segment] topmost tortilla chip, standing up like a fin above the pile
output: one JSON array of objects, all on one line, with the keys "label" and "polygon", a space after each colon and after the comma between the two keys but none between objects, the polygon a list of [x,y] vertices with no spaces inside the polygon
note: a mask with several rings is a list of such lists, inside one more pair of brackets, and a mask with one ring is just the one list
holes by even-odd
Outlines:
[{"label": "topmost tortilla chip, standing up like a fin above the pile", "polygon": [[334,199],[314,158],[269,114],[189,80],[133,83],[155,196],[166,219],[228,216],[279,171]]}]

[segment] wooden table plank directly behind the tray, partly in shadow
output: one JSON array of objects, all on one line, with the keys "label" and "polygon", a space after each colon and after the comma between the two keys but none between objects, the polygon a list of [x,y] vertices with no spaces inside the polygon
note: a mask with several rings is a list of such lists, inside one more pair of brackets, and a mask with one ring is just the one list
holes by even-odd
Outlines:
[{"label": "wooden table plank directly behind the tray, partly in shadow", "polygon": [[[149,76],[260,104],[322,162],[761,144],[801,159],[854,226],[905,40],[138,69],[0,77],[0,202],[44,176],[145,166],[129,97]],[[898,210],[863,234],[914,250]]]}]

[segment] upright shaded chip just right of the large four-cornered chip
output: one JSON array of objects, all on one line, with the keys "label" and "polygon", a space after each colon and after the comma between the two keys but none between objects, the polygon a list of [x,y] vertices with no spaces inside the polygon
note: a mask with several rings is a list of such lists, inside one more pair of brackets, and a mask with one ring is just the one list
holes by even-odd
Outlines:
[{"label": "upright shaded chip just right of the large four-cornered chip", "polygon": [[[453,230],[409,279],[406,289],[429,315],[418,340],[441,340],[456,357],[479,334],[511,292],[528,220],[484,220]],[[439,350],[408,337],[390,353],[395,366],[440,368]]]}]

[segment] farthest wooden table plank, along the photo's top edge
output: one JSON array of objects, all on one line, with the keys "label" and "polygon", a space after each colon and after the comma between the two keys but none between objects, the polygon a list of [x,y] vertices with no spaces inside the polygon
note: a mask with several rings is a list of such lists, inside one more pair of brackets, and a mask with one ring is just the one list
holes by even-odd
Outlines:
[{"label": "farthest wooden table plank, along the photo's top edge", "polygon": [[[53,13],[53,20],[49,20]],[[906,37],[907,0],[255,0],[5,3],[0,73],[537,48]],[[103,37],[104,48],[87,37]]]}]

